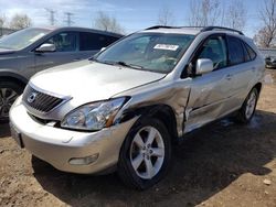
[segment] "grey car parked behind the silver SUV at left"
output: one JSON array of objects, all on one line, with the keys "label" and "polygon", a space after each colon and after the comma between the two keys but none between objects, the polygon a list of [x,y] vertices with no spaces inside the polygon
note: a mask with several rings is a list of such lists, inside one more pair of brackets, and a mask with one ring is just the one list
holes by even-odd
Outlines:
[{"label": "grey car parked behind the silver SUV at left", "polygon": [[32,75],[88,58],[121,36],[83,28],[29,28],[0,39],[0,121],[8,120]]}]

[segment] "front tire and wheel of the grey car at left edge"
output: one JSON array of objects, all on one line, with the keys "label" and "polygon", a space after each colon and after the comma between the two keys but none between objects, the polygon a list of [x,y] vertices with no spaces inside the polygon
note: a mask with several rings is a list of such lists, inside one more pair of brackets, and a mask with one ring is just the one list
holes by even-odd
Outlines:
[{"label": "front tire and wheel of the grey car at left edge", "polygon": [[15,99],[23,92],[23,86],[13,81],[0,81],[0,123],[9,121],[9,111]]}]

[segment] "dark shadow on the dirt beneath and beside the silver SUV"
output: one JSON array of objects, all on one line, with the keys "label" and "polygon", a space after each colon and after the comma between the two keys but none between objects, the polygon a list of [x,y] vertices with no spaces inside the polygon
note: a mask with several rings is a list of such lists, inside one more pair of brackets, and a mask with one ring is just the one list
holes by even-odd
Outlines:
[{"label": "dark shadow on the dirt beneath and beside the silver SUV", "polygon": [[32,159],[41,186],[72,206],[195,206],[245,173],[266,175],[276,156],[276,115],[258,110],[248,126],[224,119],[188,135],[174,148],[163,181],[138,192],[116,174],[84,176],[62,173]]}]

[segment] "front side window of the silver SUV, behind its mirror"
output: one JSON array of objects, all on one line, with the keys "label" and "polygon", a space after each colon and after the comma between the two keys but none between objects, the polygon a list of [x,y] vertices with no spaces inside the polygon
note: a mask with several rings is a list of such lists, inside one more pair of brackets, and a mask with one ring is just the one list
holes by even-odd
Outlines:
[{"label": "front side window of the silver SUV, behind its mirror", "polygon": [[203,44],[198,58],[210,58],[214,64],[214,69],[227,66],[225,39],[223,36],[209,39]]}]

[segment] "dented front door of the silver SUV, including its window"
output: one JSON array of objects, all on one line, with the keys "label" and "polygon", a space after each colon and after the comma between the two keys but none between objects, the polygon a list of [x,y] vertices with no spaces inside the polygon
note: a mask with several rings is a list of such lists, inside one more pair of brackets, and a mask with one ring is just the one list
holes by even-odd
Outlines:
[{"label": "dented front door of the silver SUV, including its window", "polygon": [[[221,117],[233,95],[232,70],[227,67],[227,44],[224,34],[212,35],[204,41],[192,58],[195,66],[199,58],[210,58],[214,70],[194,76],[185,112],[184,132],[197,129]],[[231,109],[229,109],[231,110]]]}]

